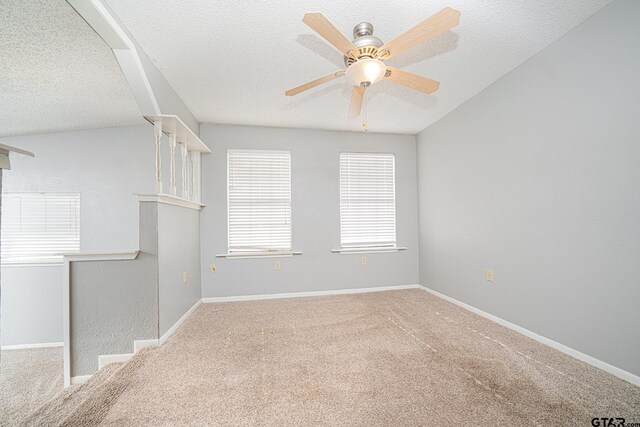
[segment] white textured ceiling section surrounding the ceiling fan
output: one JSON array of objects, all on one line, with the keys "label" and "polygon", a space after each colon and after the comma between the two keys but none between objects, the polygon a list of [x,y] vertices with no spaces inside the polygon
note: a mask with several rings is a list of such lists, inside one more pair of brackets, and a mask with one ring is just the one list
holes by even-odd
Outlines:
[{"label": "white textured ceiling section surrounding the ceiling fan", "polygon": [[[389,41],[445,6],[453,31],[389,60],[441,82],[425,95],[391,82],[368,94],[369,130],[417,133],[611,0],[107,0],[201,122],[360,130],[346,118],[344,78],[293,98],[284,91],[343,66],[301,21],[323,12],[351,36],[360,21]],[[526,102],[526,101],[525,101]]]}]

